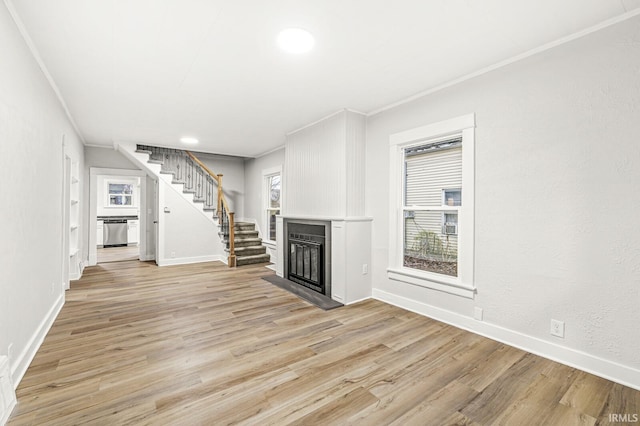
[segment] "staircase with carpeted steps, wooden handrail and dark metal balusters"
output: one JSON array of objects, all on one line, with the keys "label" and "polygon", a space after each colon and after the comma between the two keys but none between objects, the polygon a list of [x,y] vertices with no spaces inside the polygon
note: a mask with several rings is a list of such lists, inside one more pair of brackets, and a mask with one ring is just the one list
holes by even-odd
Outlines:
[{"label": "staircase with carpeted steps, wooden handrail and dark metal balusters", "polygon": [[137,145],[136,152],[149,155],[148,162],[160,165],[160,173],[172,176],[185,194],[193,194],[194,203],[202,203],[218,223],[218,235],[225,244],[229,266],[267,263],[270,256],[262,245],[255,225],[234,222],[222,191],[222,175],[209,170],[193,153],[171,148]]}]

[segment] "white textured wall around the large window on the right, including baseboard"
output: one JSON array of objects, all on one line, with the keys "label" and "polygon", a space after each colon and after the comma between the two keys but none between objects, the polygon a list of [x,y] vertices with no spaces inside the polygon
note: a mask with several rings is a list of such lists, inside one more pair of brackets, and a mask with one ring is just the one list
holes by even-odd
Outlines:
[{"label": "white textured wall around the large window on the right, including baseboard", "polygon": [[[640,388],[638,40],[635,17],[370,117],[374,295]],[[389,135],[474,112],[477,296],[390,281]]]}]

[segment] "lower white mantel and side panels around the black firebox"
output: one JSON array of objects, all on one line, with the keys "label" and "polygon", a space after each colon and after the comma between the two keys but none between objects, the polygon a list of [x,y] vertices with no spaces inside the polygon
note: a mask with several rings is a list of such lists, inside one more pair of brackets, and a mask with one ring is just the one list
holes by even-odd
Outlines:
[{"label": "lower white mantel and side panels around the black firebox", "polygon": [[371,218],[276,217],[276,274],[286,278],[284,221],[331,223],[331,298],[345,305],[371,297]]}]

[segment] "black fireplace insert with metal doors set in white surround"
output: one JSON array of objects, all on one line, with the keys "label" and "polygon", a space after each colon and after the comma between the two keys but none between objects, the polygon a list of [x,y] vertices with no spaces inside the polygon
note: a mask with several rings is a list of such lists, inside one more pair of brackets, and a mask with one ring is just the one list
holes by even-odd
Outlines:
[{"label": "black fireplace insert with metal doors set in white surround", "polygon": [[331,223],[285,220],[285,277],[331,297]]}]

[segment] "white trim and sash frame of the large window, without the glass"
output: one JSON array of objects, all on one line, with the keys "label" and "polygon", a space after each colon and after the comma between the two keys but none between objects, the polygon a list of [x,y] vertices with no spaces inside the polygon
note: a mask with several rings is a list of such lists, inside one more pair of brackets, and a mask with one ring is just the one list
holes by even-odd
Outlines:
[{"label": "white trim and sash frame of the large window, without the glass", "polygon": [[[403,266],[404,149],[427,141],[462,136],[462,206],[458,210],[458,276],[420,271]],[[433,290],[472,299],[474,284],[475,216],[475,114],[466,114],[426,126],[392,134],[389,137],[389,267],[387,276]],[[449,206],[434,210],[454,210]]]}]

